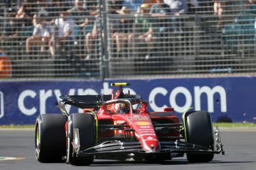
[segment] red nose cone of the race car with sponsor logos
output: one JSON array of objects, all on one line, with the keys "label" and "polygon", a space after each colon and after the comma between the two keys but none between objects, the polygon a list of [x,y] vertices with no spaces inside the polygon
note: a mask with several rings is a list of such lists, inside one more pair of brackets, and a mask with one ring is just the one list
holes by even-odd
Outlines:
[{"label": "red nose cone of the race car with sponsor logos", "polygon": [[143,121],[132,121],[130,126],[134,129],[136,138],[146,152],[159,150],[159,142],[150,118]]}]

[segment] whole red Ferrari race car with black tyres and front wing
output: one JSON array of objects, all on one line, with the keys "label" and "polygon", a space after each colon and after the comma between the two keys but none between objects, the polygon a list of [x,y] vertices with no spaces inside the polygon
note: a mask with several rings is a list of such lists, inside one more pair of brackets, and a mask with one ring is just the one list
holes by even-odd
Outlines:
[{"label": "whole red Ferrari race car with black tyres and front wing", "polygon": [[[209,162],[224,154],[218,127],[213,132],[206,111],[184,111],[182,121],[173,108],[150,113],[141,96],[124,94],[129,83],[111,83],[115,94],[60,96],[62,114],[36,118],[35,155],[39,162],[67,161],[88,166],[94,159]],[[83,113],[68,113],[68,105]],[[182,123],[181,123],[182,122]]]}]

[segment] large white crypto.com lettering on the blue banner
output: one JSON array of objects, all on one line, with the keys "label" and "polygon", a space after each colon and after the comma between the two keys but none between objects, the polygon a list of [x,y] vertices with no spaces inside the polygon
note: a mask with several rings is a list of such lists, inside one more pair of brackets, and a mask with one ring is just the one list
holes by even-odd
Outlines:
[{"label": "large white crypto.com lettering on the blue banner", "polygon": [[[104,94],[110,94],[112,91],[112,87],[109,87],[108,82],[104,82],[103,89],[100,92]],[[130,90],[131,94],[140,94],[141,90],[135,88],[124,88],[124,91],[127,92]],[[68,89],[69,95],[98,95],[97,89]],[[214,112],[214,95],[220,96],[221,103],[221,112],[227,112],[227,96],[225,89],[221,86],[215,87],[198,87],[195,86],[194,90],[190,92],[186,87],[175,87],[174,89],[166,89],[165,87],[154,87],[154,89],[150,90],[148,93],[149,96],[143,98],[148,98],[149,106],[152,111],[163,111],[164,108],[168,106],[172,106],[175,108],[175,111],[178,113],[183,113],[190,107],[195,108],[195,110],[201,110],[201,96],[205,95],[207,97],[207,110],[210,113]],[[21,113],[27,116],[35,115],[36,113],[45,114],[49,113],[51,110],[47,110],[47,101],[49,99],[55,99],[58,101],[59,96],[65,95],[65,93],[61,92],[61,89],[40,89],[40,90],[31,90],[26,89],[22,91],[18,97],[18,108]],[[179,95],[185,97],[185,103],[180,106],[177,103],[179,100]],[[156,96],[162,96],[157,99]],[[164,100],[164,97],[168,97],[168,101]],[[162,99],[161,99],[162,98]],[[28,101],[33,101],[34,104],[29,105]],[[157,101],[164,101],[164,104],[157,104]],[[193,106],[193,100],[195,106]],[[70,111],[70,106],[67,106],[67,111]]]}]

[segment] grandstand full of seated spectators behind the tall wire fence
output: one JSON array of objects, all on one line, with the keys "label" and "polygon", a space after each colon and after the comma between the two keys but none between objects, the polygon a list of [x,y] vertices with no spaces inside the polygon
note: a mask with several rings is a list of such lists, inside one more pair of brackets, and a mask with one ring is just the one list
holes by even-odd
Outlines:
[{"label": "grandstand full of seated spectators behind the tall wire fence", "polygon": [[12,62],[7,79],[256,73],[256,2],[221,1],[218,13],[212,0],[187,0],[178,17],[170,6],[154,15],[156,1],[135,2],[1,0],[0,45]]}]

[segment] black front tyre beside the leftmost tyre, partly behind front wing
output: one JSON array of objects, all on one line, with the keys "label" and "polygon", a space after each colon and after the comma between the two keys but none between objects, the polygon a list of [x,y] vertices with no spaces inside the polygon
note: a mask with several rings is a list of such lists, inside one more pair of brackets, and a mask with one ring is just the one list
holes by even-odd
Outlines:
[{"label": "black front tyre beside the leftmost tyre, partly behind front wing", "polygon": [[95,146],[95,120],[93,116],[86,113],[73,113],[68,120],[67,162],[75,166],[89,166],[92,164],[94,156],[81,157],[74,153],[72,145],[74,129],[79,129],[81,150]]}]

